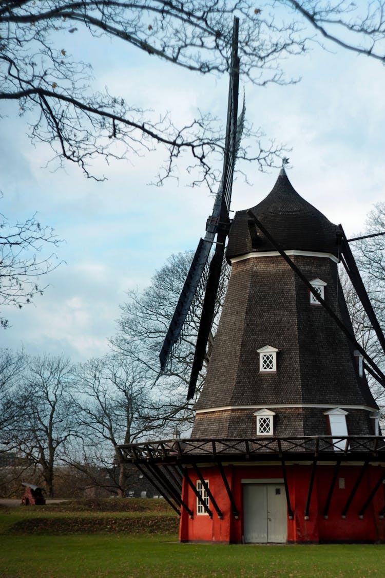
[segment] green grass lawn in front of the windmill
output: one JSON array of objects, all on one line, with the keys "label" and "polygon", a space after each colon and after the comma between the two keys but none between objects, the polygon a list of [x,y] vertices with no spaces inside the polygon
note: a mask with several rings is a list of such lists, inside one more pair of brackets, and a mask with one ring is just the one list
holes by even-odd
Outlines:
[{"label": "green grass lawn in front of the windmill", "polygon": [[[385,577],[385,546],[179,544],[171,522],[172,510],[164,505],[154,510],[150,501],[146,502],[148,506],[143,508],[143,502],[138,501],[137,509],[130,502],[129,512],[115,509],[99,513],[87,508],[81,512],[71,505],[67,512],[64,506],[60,511],[53,506],[44,511],[21,507],[0,510],[0,576]],[[160,527],[163,524],[169,528],[166,533],[152,532],[148,521],[155,514],[160,518]],[[119,531],[119,520],[124,518],[131,522],[139,520],[134,522],[136,533]],[[68,523],[57,523],[63,519]],[[77,519],[84,520],[85,528],[101,523],[102,529],[92,534],[69,533],[71,521]],[[47,520],[55,521],[54,535],[44,533]],[[33,524],[37,535],[31,533]],[[115,529],[111,529],[114,525]]]}]

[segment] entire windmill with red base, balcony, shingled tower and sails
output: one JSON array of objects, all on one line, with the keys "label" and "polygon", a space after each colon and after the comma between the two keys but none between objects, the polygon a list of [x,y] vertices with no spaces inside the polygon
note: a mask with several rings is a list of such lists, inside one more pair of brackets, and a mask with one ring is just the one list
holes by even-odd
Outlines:
[{"label": "entire windmill with red base, balcony, shingled tower and sails", "polygon": [[[160,353],[177,343],[216,235],[188,398],[195,392],[218,288],[229,287],[190,439],[121,446],[181,517],[182,541],[385,541],[385,443],[365,375],[385,376],[357,343],[337,265],[385,339],[349,241],[291,186],[236,213],[231,186],[237,120],[234,23],[223,176]],[[181,492],[175,489],[181,484]]]}]

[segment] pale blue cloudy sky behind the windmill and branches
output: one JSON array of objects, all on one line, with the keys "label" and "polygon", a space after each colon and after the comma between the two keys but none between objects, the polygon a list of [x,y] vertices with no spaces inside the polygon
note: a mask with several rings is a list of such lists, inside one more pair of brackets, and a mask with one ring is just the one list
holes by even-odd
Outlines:
[{"label": "pale blue cloudy sky behind the windmill and branches", "polygon": [[[58,39],[58,47],[61,39]],[[95,86],[107,86],[143,108],[170,111],[175,124],[210,112],[225,124],[227,79],[184,71],[107,39],[78,36],[94,65]],[[385,69],[368,57],[328,45],[284,63],[301,81],[288,86],[253,86],[241,80],[246,118],[277,143],[291,148],[287,174],[294,188],[347,235],[364,230],[373,203],[384,200]],[[107,180],[85,179],[79,168],[53,171],[51,151],[32,146],[25,118],[15,104],[2,104],[0,121],[0,212],[10,222],[35,212],[63,239],[55,252],[58,268],[40,283],[42,297],[19,310],[3,308],[10,327],[0,346],[31,355],[63,355],[87,361],[109,351],[117,331],[119,305],[128,290],[143,290],[167,257],[195,249],[211,214],[212,195],[191,188],[181,164],[179,180],[155,180],[165,158],[158,149],[142,157],[95,168]],[[267,142],[267,140],[266,140]],[[279,168],[262,173],[240,163],[233,186],[233,210],[261,201]],[[48,250],[43,252],[48,255]]]}]

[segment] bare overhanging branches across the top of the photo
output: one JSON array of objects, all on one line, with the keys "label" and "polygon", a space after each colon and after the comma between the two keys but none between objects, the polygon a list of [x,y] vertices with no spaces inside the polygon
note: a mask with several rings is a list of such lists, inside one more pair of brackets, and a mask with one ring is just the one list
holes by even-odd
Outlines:
[{"label": "bare overhanging branches across the top of the photo", "polygon": [[[126,102],[108,91],[95,92],[90,66],[81,56],[70,55],[68,46],[59,48],[58,39],[62,44],[63,35],[68,35],[70,45],[73,34],[88,39],[107,35],[190,71],[220,73],[228,68],[232,20],[237,15],[241,73],[261,85],[285,83],[280,58],[304,53],[317,38],[384,60],[383,1],[358,4],[345,0],[271,0],[258,6],[251,0],[4,0],[0,99],[17,101],[20,114],[31,114],[33,142],[49,143],[59,164],[77,163],[87,176],[92,176],[89,165],[97,155],[120,158],[159,144],[166,147],[168,158],[163,177],[185,151],[192,164],[200,166],[198,180],[211,184],[215,174],[210,154],[222,149],[223,140],[209,116],[175,127],[162,112],[156,113],[161,120],[155,120],[140,103]],[[349,34],[357,41],[350,40]],[[260,166],[271,165],[279,149],[259,144],[253,158]]]}]

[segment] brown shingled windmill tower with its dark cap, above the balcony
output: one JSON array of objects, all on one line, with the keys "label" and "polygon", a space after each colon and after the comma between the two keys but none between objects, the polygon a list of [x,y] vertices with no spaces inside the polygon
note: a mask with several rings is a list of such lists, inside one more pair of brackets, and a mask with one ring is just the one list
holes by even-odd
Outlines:
[{"label": "brown shingled windmill tower with its dark cap, above the balcony", "polygon": [[[337,225],[298,195],[283,170],[251,212],[306,279],[323,281],[324,301],[353,332],[337,259],[330,258],[338,257]],[[236,213],[227,258],[244,258],[231,262],[192,436],[252,437],[255,411],[261,408],[275,413],[275,435],[328,435],[324,412],[331,407],[347,408],[350,435],[372,435],[369,412],[376,403],[365,375],[359,375],[354,346],[326,310],[312,304],[300,277],[253,227],[247,210]],[[266,346],[278,352],[271,372],[260,370],[259,350]]]}]

